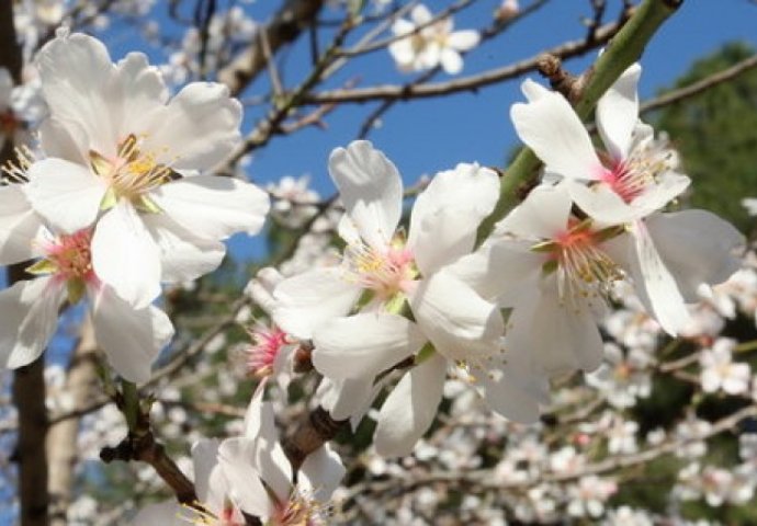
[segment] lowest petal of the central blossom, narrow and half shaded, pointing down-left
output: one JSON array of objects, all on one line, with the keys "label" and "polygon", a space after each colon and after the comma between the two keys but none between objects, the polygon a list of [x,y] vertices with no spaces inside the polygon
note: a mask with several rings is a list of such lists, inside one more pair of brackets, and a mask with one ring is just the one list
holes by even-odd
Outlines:
[{"label": "lowest petal of the central blossom, narrow and half shaded, pointing down-left", "polygon": [[400,457],[413,451],[431,426],[442,398],[447,359],[433,354],[403,376],[378,413],[373,443],[382,457]]}]

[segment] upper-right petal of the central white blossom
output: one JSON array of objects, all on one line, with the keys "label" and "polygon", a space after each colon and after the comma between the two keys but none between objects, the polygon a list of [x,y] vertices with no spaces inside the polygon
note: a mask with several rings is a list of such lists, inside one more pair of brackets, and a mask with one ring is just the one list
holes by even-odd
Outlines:
[{"label": "upper-right petal of the central white blossom", "polygon": [[498,195],[497,174],[478,164],[457,164],[431,180],[413,207],[407,241],[423,274],[473,250]]}]

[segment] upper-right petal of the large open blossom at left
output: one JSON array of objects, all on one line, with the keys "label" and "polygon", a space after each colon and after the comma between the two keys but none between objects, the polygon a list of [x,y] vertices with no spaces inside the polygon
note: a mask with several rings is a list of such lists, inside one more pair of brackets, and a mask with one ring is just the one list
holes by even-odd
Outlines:
[{"label": "upper-right petal of the large open blossom at left", "polygon": [[166,151],[176,170],[205,171],[223,161],[241,140],[241,104],[228,88],[192,82],[143,123],[145,149]]}]

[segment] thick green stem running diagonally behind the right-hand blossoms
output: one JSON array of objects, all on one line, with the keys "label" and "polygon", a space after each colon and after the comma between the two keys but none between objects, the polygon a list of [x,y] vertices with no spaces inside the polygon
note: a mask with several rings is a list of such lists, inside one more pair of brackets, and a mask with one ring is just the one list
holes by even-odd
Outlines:
[{"label": "thick green stem running diagonally behind the right-hand blossoms", "polygon": [[[621,73],[639,60],[655,32],[682,3],[683,0],[644,0],[636,8],[623,28],[610,41],[594,67],[584,76],[586,84],[580,99],[574,105],[581,119],[590,115],[599,98]],[[523,148],[520,151],[505,172],[499,201],[492,215],[478,228],[476,244],[481,244],[492,233],[495,224],[518,204],[518,190],[535,179],[540,167],[541,161],[530,148]]]}]

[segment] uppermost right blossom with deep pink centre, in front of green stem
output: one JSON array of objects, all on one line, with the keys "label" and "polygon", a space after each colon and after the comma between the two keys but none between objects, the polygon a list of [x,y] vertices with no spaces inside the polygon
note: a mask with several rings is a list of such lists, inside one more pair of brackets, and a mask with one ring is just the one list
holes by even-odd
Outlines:
[{"label": "uppermost right blossom with deep pink centre, in front of green stem", "polygon": [[[634,64],[597,104],[607,152],[595,151],[567,100],[533,81],[522,85],[529,103],[515,104],[510,114],[545,172],[564,181],[585,214],[602,226],[624,225],[629,236],[620,238],[622,247],[613,258],[632,277],[647,310],[676,335],[689,323],[685,304],[696,301],[696,287],[727,279],[737,268],[731,252],[744,241],[735,228],[703,210],[658,214],[690,180],[676,171],[677,155],[639,119],[640,75],[641,66]],[[691,244],[681,242],[682,236]]]}]

